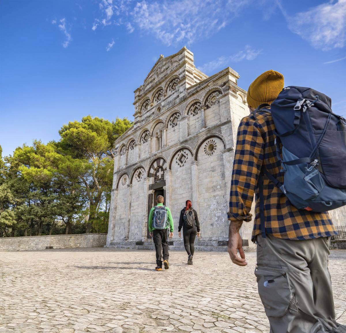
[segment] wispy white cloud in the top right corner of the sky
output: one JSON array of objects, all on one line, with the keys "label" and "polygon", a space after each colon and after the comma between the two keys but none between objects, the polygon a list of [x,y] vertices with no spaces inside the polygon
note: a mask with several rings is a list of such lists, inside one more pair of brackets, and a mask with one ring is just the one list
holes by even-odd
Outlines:
[{"label": "wispy white cloud in the top right corner of the sky", "polygon": [[294,16],[287,15],[281,0],[276,1],[289,29],[307,40],[314,48],[327,51],[345,46],[346,0],[322,3]]}]

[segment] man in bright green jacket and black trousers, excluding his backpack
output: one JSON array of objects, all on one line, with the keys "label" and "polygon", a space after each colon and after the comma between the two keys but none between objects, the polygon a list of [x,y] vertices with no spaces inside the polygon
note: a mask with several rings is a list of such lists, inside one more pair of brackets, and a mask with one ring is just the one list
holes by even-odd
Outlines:
[{"label": "man in bright green jacket and black trousers, excluding his backpack", "polygon": [[[163,201],[164,198],[162,195],[158,195],[156,198],[157,202],[157,207],[163,206]],[[163,258],[163,265],[165,266],[165,269],[169,269],[169,264],[168,264],[168,231],[170,231],[169,237],[173,237],[173,219],[172,219],[172,214],[171,211],[168,207],[165,207],[167,211],[167,225],[165,229],[155,229],[153,228],[153,215],[154,215],[154,210],[155,207],[153,207],[150,210],[149,213],[149,221],[148,221],[148,226],[149,226],[149,232],[151,237],[153,237],[154,244],[155,244],[155,251],[156,251],[156,267],[155,270],[162,270],[162,258]]]}]

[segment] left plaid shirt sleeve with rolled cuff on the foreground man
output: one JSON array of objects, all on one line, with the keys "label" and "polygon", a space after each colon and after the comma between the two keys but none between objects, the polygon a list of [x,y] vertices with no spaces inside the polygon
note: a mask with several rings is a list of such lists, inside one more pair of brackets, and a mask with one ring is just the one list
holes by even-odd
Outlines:
[{"label": "left plaid shirt sleeve with rolled cuff on the foreground man", "polygon": [[238,127],[234,156],[228,220],[251,221],[251,204],[261,172],[264,140],[261,128],[251,115],[242,119]]}]

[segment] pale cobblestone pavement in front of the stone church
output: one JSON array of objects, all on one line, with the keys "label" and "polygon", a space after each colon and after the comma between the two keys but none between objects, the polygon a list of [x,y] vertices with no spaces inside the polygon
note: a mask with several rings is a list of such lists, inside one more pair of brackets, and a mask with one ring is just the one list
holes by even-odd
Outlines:
[{"label": "pale cobblestone pavement in front of the stone church", "polygon": [[[226,252],[57,249],[0,252],[0,332],[268,332],[253,271]],[[346,324],[346,251],[332,251],[336,313]]]}]

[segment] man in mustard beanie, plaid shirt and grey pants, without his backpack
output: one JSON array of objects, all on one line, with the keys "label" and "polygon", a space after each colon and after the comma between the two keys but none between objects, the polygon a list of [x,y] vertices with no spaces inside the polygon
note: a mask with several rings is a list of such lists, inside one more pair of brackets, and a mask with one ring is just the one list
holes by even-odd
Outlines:
[{"label": "man in mustard beanie, plaid shirt and grey pants, without his backpack", "polygon": [[345,332],[340,331],[341,326],[336,329],[328,273],[328,235],[334,234],[333,223],[328,213],[298,210],[272,181],[283,184],[274,121],[270,106],[255,109],[264,103],[270,105],[283,84],[283,75],[270,70],[249,86],[247,103],[251,113],[242,119],[237,133],[227,251],[233,263],[247,265],[239,229],[243,221],[252,219],[255,193],[255,275],[270,332]]}]

